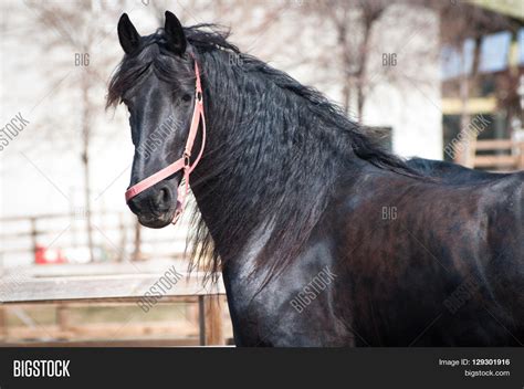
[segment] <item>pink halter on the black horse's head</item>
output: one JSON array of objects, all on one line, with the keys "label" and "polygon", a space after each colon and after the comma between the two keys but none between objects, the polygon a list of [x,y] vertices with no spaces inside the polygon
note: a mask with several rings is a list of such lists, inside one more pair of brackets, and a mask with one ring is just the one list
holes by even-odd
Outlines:
[{"label": "pink halter on the black horse's head", "polygon": [[[126,191],[126,202],[129,202],[129,200],[133,199],[138,193],[142,193],[144,190],[153,187],[155,183],[160,182],[167,177],[184,169],[184,180],[186,182],[184,186],[180,182],[178,187],[177,210],[175,211],[175,215],[172,218],[174,224],[178,221],[180,214],[184,212],[184,209],[186,207],[186,199],[189,193],[189,175],[192,172],[192,170],[198,165],[200,158],[202,157],[203,147],[206,145],[206,117],[203,116],[202,85],[200,83],[200,72],[198,69],[197,60],[195,59],[192,54],[191,56],[195,60],[195,74],[197,77],[195,82],[195,108],[192,112],[191,127],[189,127],[189,135],[188,135],[188,140],[186,141],[186,148],[184,149],[184,155],[181,158],[177,159],[171,165],[145,178],[140,182],[135,183],[133,187],[130,187]],[[197,159],[195,160],[192,165],[190,165],[192,146],[195,143],[195,138],[197,137],[197,132],[200,125],[200,120],[202,123],[202,145],[200,146],[200,151],[197,156]]]}]

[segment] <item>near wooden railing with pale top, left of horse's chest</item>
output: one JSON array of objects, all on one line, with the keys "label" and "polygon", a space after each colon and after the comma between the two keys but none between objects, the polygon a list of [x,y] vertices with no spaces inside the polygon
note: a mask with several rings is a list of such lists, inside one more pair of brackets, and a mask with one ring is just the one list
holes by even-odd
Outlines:
[{"label": "near wooden railing with pale top, left of horse's chest", "polygon": [[[202,283],[202,273],[182,274],[159,299],[144,305],[166,270],[179,265],[177,261],[146,261],[11,269],[0,278],[0,345],[224,345],[231,326],[220,277],[216,283]],[[166,320],[151,315],[166,304],[174,312],[181,307],[180,317]],[[42,314],[42,307],[54,311],[52,323],[29,314],[35,308]],[[127,314],[103,323],[71,319],[72,311],[94,307],[126,308]],[[14,316],[25,316],[29,323],[13,324]],[[132,322],[130,316],[139,319]]]}]

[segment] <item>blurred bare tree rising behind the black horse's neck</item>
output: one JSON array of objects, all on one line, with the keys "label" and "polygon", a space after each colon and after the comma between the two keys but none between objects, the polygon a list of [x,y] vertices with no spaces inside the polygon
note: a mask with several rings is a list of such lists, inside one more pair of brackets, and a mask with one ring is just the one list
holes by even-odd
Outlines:
[{"label": "blurred bare tree rising behind the black horse's neck", "polygon": [[[395,6],[404,6],[405,8]],[[315,14],[318,25],[327,31],[323,36],[326,39],[326,48],[321,55],[325,57],[325,51],[332,50],[336,60],[326,63],[325,59],[315,59],[317,64],[329,69],[331,73],[337,75],[336,83],[340,85],[342,105],[347,114],[355,109],[357,120],[363,120],[364,107],[368,96],[377,85],[388,83],[397,84],[399,90],[406,83],[423,84],[426,82],[420,69],[408,71],[409,64],[402,63],[401,71],[396,66],[397,55],[408,46],[413,36],[422,34],[434,18],[420,18],[415,9],[410,14],[406,8],[423,8],[422,1],[387,1],[387,0],[317,0],[306,2],[303,7],[305,14]],[[404,12],[404,13],[402,13]],[[402,19],[399,25],[398,19]],[[411,28],[406,28],[410,25]],[[399,27],[404,27],[399,29]],[[399,34],[400,31],[400,34]],[[382,41],[391,39],[388,34],[395,34],[395,48],[384,52]],[[331,40],[331,41],[329,41]],[[431,48],[411,53],[411,63],[419,59],[428,59],[434,55]],[[331,48],[331,49],[329,49]],[[382,61],[391,63],[384,64]],[[381,65],[377,66],[377,63]]]}]

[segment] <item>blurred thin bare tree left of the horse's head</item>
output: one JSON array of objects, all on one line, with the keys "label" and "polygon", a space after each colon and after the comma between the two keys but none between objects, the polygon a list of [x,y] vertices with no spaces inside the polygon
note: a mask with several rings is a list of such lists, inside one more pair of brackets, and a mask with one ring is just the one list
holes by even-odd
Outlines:
[{"label": "blurred thin bare tree left of the horse's head", "polygon": [[[104,102],[94,101],[92,94],[97,88],[105,88],[107,74],[104,73],[104,70],[109,69],[109,64],[114,64],[116,57],[106,53],[105,56],[97,57],[96,66],[91,66],[92,56],[90,55],[97,44],[101,44],[108,35],[101,20],[111,15],[116,18],[116,10],[122,8],[108,7],[105,2],[95,0],[73,3],[25,1],[25,6],[34,14],[33,28],[35,36],[42,41],[42,46],[49,51],[62,50],[67,53],[64,61],[53,61],[49,64],[51,67],[44,71],[51,78],[56,78],[54,83],[63,82],[67,87],[67,93],[73,94],[73,91],[76,90],[78,99],[72,107],[76,107],[77,111],[70,112],[69,116],[80,117],[80,123],[76,124],[80,127],[78,132],[72,134],[67,128],[69,125],[64,126],[63,123],[57,125],[53,119],[55,115],[49,112],[50,125],[42,125],[39,133],[46,139],[56,138],[56,135],[60,134],[64,145],[69,148],[80,144],[80,160],[83,168],[83,214],[86,222],[90,257],[93,261],[91,153],[95,127],[94,118],[96,112],[103,112]],[[70,76],[75,67],[78,70],[75,73],[80,74]],[[59,132],[57,128],[61,127],[66,127],[69,133]],[[56,143],[52,143],[52,145],[56,147]]]}]

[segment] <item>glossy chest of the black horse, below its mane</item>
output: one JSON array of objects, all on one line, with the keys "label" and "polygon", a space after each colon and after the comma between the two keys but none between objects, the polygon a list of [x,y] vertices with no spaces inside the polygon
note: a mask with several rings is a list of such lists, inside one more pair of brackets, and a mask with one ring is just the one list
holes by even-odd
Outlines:
[{"label": "glossy chest of the black horse, below its mane", "polygon": [[265,274],[252,273],[254,256],[224,269],[237,345],[353,346],[334,302],[333,261],[328,245],[316,242],[265,286]]}]

